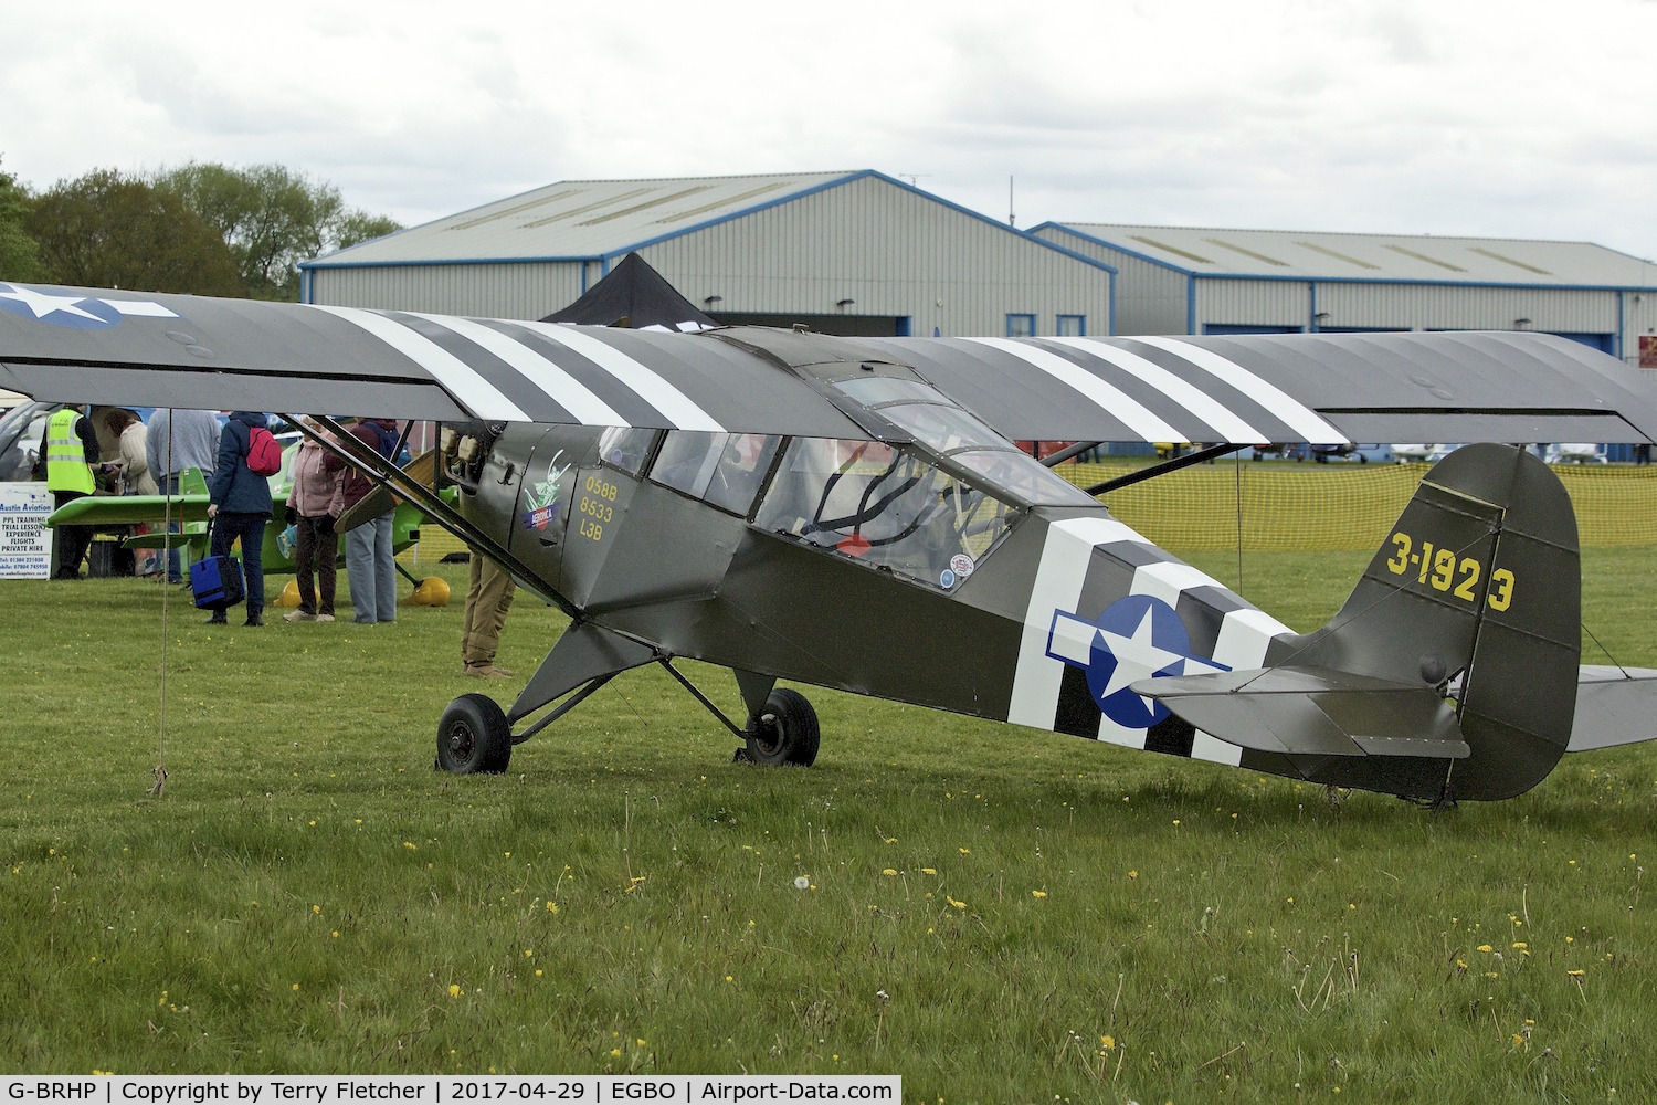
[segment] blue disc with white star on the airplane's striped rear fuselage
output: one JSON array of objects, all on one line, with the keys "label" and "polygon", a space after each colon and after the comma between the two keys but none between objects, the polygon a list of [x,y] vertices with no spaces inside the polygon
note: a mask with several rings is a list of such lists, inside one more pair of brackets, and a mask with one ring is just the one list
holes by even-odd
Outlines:
[{"label": "blue disc with white star on the airplane's striped rear fuselage", "polygon": [[1087,689],[1105,717],[1125,729],[1147,729],[1168,707],[1143,699],[1132,686],[1152,676],[1185,674],[1191,638],[1173,606],[1152,595],[1118,598],[1099,615],[1099,631],[1087,664]]}]

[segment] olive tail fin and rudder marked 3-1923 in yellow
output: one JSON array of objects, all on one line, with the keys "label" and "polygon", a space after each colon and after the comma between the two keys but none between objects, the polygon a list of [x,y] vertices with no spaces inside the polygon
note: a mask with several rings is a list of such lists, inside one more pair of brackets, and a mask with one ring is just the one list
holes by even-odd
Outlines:
[{"label": "olive tail fin and rudder marked 3-1923 in yellow", "polygon": [[1468,757],[1341,759],[1316,777],[1493,800],[1529,790],[1564,754],[1581,641],[1571,499],[1529,452],[1475,444],[1427,474],[1341,613],[1268,661],[1415,686],[1460,676]]}]

